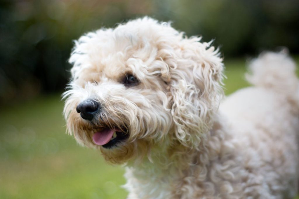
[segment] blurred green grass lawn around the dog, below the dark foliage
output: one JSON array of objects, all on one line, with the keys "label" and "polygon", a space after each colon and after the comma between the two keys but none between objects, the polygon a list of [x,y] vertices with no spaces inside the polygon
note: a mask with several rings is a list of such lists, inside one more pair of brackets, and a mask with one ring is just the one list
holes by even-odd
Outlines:
[{"label": "blurred green grass lawn around the dog, below the dark foliage", "polygon": [[[244,60],[225,65],[226,94],[248,85]],[[0,198],[126,198],[124,169],[65,134],[62,108],[59,95],[1,108]]]}]

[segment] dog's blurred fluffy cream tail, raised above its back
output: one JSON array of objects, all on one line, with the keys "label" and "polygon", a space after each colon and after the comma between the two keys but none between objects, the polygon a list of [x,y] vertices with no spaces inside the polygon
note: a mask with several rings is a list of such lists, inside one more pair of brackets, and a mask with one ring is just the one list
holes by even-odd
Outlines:
[{"label": "dog's blurred fluffy cream tail, raised above its back", "polygon": [[296,63],[281,52],[263,52],[249,64],[247,80],[258,87],[274,90],[284,96],[299,110],[299,80],[296,76]]}]

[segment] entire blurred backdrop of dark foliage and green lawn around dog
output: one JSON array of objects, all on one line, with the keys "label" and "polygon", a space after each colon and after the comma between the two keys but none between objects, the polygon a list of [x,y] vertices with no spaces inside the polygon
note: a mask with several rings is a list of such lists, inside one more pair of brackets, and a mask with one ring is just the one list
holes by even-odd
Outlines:
[{"label": "entire blurred backdrop of dark foliage and green lawn around dog", "polygon": [[299,62],[298,0],[2,0],[0,198],[126,198],[123,168],[65,134],[60,96],[75,39],[145,15],[214,39],[226,94],[248,85],[246,59],[263,50]]}]

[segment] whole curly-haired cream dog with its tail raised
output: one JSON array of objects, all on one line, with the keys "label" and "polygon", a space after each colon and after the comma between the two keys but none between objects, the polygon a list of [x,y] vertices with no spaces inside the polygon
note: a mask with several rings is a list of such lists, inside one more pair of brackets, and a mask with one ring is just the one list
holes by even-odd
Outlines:
[{"label": "whole curly-haired cream dog with its tail raised", "polygon": [[299,87],[283,52],[250,64],[222,102],[211,43],[136,19],[75,42],[68,132],[126,163],[128,198],[292,198],[298,187]]}]

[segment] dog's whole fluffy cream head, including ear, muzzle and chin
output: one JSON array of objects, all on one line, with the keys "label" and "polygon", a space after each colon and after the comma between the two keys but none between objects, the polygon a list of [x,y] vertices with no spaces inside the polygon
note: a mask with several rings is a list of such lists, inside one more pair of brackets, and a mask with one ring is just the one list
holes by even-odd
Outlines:
[{"label": "dog's whole fluffy cream head, including ear, muzzle and chin", "polygon": [[196,148],[223,92],[222,60],[199,41],[147,17],[82,36],[64,93],[68,132],[113,163]]}]

